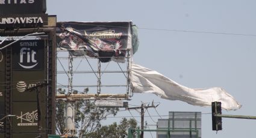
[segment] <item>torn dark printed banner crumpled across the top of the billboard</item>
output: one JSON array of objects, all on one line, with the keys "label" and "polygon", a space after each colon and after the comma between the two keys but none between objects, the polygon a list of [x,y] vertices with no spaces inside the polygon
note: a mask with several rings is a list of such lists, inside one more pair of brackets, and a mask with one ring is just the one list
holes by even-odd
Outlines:
[{"label": "torn dark printed banner crumpled across the top of the billboard", "polygon": [[57,46],[73,56],[90,56],[101,62],[125,62],[131,49],[132,22],[58,22]]}]

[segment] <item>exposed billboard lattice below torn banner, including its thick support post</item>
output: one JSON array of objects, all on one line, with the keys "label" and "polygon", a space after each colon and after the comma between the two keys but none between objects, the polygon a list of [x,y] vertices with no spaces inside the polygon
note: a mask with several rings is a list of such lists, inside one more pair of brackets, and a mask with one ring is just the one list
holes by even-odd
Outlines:
[{"label": "exposed billboard lattice below torn banner, including its thick support post", "polygon": [[[66,55],[66,57],[64,56]],[[120,65],[119,63],[113,62],[112,64],[116,64],[119,70],[108,70],[108,66],[111,66],[111,62],[108,62],[105,65],[104,70],[102,70],[102,63],[98,58],[89,58],[84,56],[81,57],[73,57],[70,55],[69,51],[57,50],[57,89],[67,89],[66,94],[57,94],[56,98],[66,100],[66,131],[65,134],[70,134],[74,136],[76,134],[75,130],[75,101],[78,99],[83,100],[129,100],[132,96],[130,91],[130,61],[131,56],[129,52],[126,55],[126,62]],[[81,65],[87,63],[85,65]],[[96,64],[95,68],[98,70],[95,71],[94,68],[88,68],[92,64]],[[75,70],[74,65],[76,65]],[[86,66],[87,69],[86,70]],[[67,67],[67,68],[65,68]],[[112,65],[114,67],[114,65]],[[79,68],[81,70],[77,71]],[[125,70],[124,70],[125,69]],[[78,76],[76,76],[78,74]],[[102,80],[105,80],[104,75],[106,74],[115,74],[115,77],[122,77],[123,84],[104,84]],[[83,77],[82,77],[83,76]],[[79,77],[76,79],[76,77]],[[86,85],[86,81],[83,80],[94,80],[95,84]],[[111,78],[106,78],[111,79]],[[63,81],[64,80],[64,81]],[[79,80],[79,81],[77,81]],[[117,79],[120,81],[120,79]],[[66,81],[66,83],[65,83]],[[78,83],[78,85],[76,85]],[[84,83],[81,85],[81,83]],[[111,88],[110,91],[104,88]],[[87,90],[86,90],[87,89]],[[93,89],[91,91],[91,89]],[[119,91],[122,89],[122,91]],[[111,93],[113,91],[113,93]],[[117,92],[118,91],[118,92]]]}]

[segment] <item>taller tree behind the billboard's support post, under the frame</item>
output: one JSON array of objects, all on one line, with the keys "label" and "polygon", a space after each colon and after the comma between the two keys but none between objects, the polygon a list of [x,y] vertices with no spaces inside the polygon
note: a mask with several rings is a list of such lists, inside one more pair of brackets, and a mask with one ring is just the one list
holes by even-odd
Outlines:
[{"label": "taller tree behind the billboard's support post, under the frame", "polygon": [[[65,90],[58,89],[58,93],[65,94]],[[75,92],[78,94],[78,92]],[[75,94],[74,93],[74,94]],[[83,94],[83,93],[82,93]],[[101,121],[108,115],[116,115],[118,108],[99,108],[95,106],[94,101],[76,100],[75,102],[75,128],[78,137],[84,137],[101,128]],[[64,134],[65,131],[65,105],[66,101],[58,100],[56,102],[56,130],[58,134]]]}]

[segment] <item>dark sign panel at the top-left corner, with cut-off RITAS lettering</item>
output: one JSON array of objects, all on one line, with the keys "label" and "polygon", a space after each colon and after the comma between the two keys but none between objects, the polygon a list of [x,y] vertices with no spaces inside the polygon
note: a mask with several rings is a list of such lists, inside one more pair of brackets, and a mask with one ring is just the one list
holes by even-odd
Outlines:
[{"label": "dark sign panel at the top-left corner, with cut-off RITAS lettering", "polygon": [[1,14],[45,13],[46,0],[1,0]]}]

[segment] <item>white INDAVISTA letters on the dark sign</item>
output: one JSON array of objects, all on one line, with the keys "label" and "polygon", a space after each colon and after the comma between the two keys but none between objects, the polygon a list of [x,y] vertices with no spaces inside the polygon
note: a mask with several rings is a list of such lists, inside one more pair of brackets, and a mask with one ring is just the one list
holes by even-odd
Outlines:
[{"label": "white INDAVISTA letters on the dark sign", "polygon": [[[0,0],[1,1],[1,0]],[[0,20],[0,24],[24,24],[24,23],[43,23],[42,17],[6,17]]]}]

